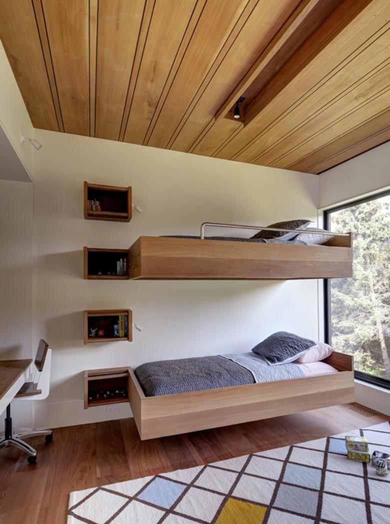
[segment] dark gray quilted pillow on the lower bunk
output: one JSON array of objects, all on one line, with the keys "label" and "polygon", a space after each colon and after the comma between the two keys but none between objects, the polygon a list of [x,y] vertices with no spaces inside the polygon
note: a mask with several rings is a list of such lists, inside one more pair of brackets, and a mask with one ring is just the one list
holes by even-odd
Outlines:
[{"label": "dark gray quilted pillow on the lower bunk", "polygon": [[295,361],[315,344],[314,340],[303,339],[286,331],[278,331],[257,344],[252,351],[270,366],[274,366]]}]

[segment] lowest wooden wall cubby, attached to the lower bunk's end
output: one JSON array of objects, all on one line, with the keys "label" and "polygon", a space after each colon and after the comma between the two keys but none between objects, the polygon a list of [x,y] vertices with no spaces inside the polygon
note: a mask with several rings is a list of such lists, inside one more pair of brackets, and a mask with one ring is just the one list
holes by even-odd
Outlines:
[{"label": "lowest wooden wall cubby, attached to the lower bunk's end", "polygon": [[84,409],[129,402],[129,370],[113,367],[84,372]]}]

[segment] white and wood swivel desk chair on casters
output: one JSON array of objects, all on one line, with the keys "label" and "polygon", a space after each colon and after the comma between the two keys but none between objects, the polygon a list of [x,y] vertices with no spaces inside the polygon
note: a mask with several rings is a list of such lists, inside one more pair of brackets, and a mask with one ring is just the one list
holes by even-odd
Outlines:
[{"label": "white and wood swivel desk chair on casters", "polygon": [[[36,369],[31,377],[31,381],[26,382],[19,389],[15,398],[19,400],[40,400],[48,397],[50,390],[51,349],[49,348],[48,343],[42,339],[39,341],[34,365]],[[4,421],[4,439],[0,441],[0,448],[3,446],[17,447],[19,450],[24,451],[29,455],[27,460],[32,464],[37,460],[37,452],[33,447],[27,444],[27,442],[21,440],[21,438],[29,438],[30,436],[39,435],[44,435],[46,442],[51,442],[53,440],[51,430],[29,431],[13,436],[11,405],[8,404]]]}]

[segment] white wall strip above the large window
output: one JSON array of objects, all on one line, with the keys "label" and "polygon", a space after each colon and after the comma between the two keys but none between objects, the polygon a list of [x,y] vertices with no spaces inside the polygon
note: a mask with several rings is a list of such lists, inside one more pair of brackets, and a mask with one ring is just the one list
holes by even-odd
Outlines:
[{"label": "white wall strip above the large window", "polygon": [[390,141],[319,176],[319,208],[390,188]]}]

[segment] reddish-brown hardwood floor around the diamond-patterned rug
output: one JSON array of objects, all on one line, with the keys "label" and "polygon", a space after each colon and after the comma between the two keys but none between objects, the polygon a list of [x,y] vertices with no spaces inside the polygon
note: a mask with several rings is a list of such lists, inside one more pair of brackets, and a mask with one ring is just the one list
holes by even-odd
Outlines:
[{"label": "reddish-brown hardwood floor around the diamond-patterned rug", "polygon": [[[68,494],[131,478],[272,449],[390,420],[358,405],[296,413],[162,439],[140,441],[133,419],[54,430],[31,439],[38,460],[0,451],[0,523],[63,524]],[[365,413],[365,415],[364,415]]]}]

